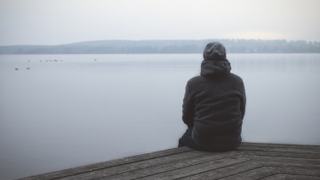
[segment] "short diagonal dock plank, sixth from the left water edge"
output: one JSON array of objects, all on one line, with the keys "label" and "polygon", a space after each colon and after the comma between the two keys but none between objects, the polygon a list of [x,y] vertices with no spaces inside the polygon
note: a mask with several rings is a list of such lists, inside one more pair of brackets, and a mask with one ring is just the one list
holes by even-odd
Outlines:
[{"label": "short diagonal dock plank, sixth from the left water edge", "polygon": [[273,168],[268,168],[268,167],[261,167],[261,168],[255,168],[234,176],[228,176],[225,178],[221,178],[224,180],[228,180],[228,179],[239,179],[239,180],[243,180],[243,179],[260,179],[266,176],[272,176],[272,175],[276,175],[276,171]]}]

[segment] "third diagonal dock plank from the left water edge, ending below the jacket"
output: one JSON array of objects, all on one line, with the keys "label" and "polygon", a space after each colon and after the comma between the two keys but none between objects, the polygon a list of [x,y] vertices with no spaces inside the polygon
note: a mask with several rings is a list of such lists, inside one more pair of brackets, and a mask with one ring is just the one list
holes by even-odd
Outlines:
[{"label": "third diagonal dock plank from the left water edge, ending below the jacket", "polygon": [[122,174],[117,174],[114,176],[101,176],[101,179],[122,179],[122,180],[136,179],[144,176],[152,176],[152,175],[164,173],[164,172],[175,170],[175,169],[194,166],[196,164],[201,164],[207,161],[220,160],[220,159],[230,157],[230,156],[235,156],[235,155],[239,155],[239,154],[234,151],[226,152],[226,153],[206,153],[202,156],[188,158],[185,160],[172,160],[172,162],[170,163],[132,170],[132,171],[125,172]]}]

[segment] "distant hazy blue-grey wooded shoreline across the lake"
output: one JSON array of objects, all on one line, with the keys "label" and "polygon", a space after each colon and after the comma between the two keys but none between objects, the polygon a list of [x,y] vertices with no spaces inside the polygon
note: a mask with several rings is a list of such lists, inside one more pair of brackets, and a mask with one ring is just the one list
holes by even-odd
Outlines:
[{"label": "distant hazy blue-grey wooded shoreline across the lake", "polygon": [[286,40],[107,40],[60,45],[0,46],[0,54],[179,54],[202,53],[219,41],[228,53],[320,53],[320,42]]}]

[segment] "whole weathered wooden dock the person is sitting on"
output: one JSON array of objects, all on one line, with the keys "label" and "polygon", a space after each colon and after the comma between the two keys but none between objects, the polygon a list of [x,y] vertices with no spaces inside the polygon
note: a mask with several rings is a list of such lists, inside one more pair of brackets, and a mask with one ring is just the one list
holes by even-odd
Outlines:
[{"label": "whole weathered wooden dock the person is sitting on", "polygon": [[181,147],[23,179],[320,179],[320,145],[242,143],[224,153]]}]

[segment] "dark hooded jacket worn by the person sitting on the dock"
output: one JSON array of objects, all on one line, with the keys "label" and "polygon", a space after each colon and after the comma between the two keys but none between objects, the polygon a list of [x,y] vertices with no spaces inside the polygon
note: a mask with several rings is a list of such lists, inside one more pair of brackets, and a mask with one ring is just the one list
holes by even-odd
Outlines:
[{"label": "dark hooded jacket worn by the person sitting on the dock", "polygon": [[201,75],[187,83],[182,120],[201,149],[226,151],[242,141],[244,82],[230,70],[228,59],[204,59]]}]

